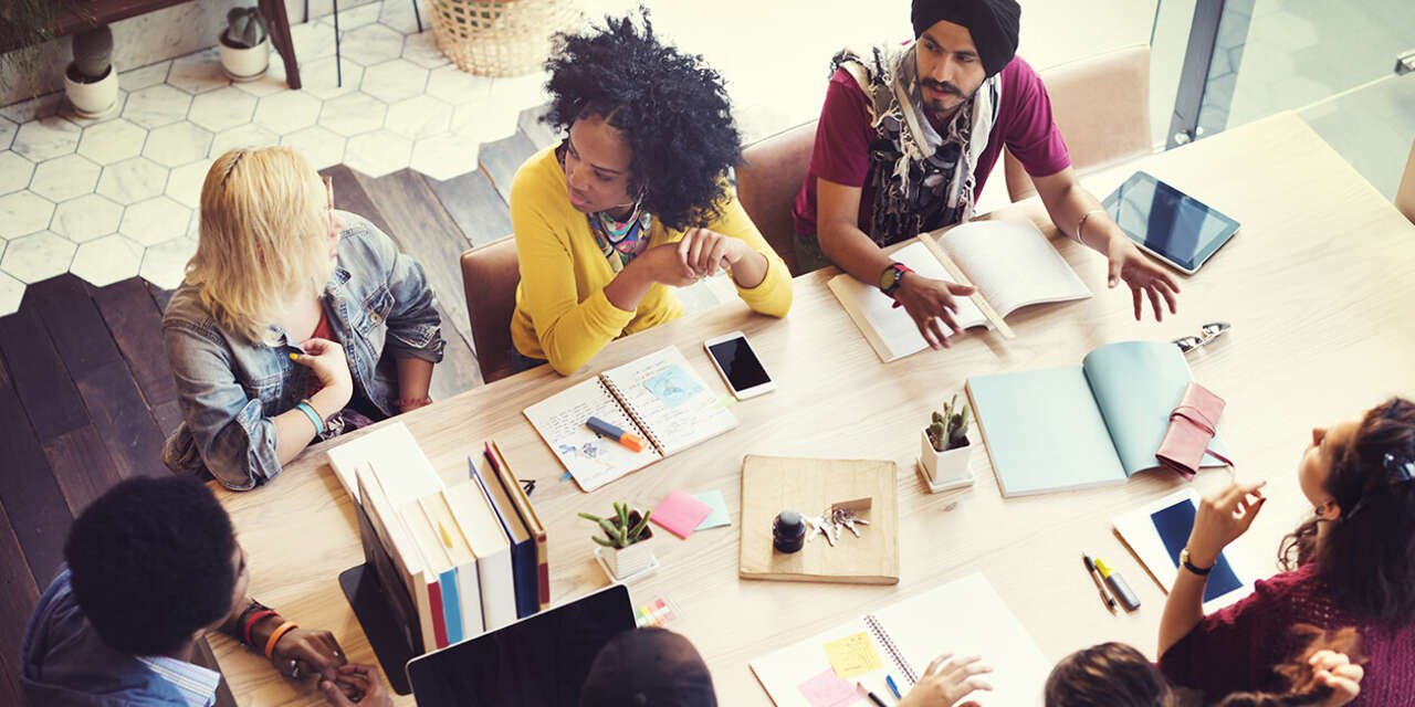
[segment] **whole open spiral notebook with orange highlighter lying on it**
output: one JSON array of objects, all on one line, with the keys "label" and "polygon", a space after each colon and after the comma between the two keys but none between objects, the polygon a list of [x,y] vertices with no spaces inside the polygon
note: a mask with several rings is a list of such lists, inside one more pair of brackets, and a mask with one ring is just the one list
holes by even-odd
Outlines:
[{"label": "whole open spiral notebook with orange highlighter lying on it", "polygon": [[[611,368],[525,409],[526,420],[583,491],[737,426],[722,396],[676,346]],[[599,417],[648,441],[633,451],[584,426]]]}]

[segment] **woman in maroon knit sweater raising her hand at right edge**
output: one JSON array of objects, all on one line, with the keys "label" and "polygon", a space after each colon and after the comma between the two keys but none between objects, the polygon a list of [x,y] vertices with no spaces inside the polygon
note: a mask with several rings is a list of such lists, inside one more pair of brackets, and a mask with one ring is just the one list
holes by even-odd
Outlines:
[{"label": "woman in maroon knit sweater raising her hand at right edge", "polygon": [[1391,399],[1312,430],[1298,467],[1315,515],[1283,539],[1288,571],[1203,615],[1207,570],[1262,509],[1262,484],[1234,484],[1199,506],[1160,619],[1160,670],[1210,700],[1269,689],[1302,648],[1296,624],[1354,626],[1368,658],[1360,706],[1415,704],[1415,403]]}]

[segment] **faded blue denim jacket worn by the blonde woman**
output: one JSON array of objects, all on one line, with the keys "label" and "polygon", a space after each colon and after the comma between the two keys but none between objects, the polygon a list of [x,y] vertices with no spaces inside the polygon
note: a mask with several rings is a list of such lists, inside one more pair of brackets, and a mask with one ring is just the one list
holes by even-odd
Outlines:
[{"label": "faded blue denim jacket worn by the blonde woman", "polygon": [[[396,410],[396,359],[437,363],[441,318],[427,277],[412,257],[361,216],[347,223],[338,262],[324,286],[324,315],[348,358],[354,395],[385,416]],[[290,361],[299,341],[279,325],[266,342],[224,331],[183,283],[163,315],[163,342],[177,380],[183,423],[163,448],[175,472],[211,472],[232,491],[248,491],[280,472],[272,417],[307,397],[314,372]]]}]

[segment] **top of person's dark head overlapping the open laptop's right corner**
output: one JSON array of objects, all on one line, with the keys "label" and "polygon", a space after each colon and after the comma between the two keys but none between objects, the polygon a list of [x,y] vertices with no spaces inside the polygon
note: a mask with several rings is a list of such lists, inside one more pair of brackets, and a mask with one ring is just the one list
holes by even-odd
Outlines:
[{"label": "top of person's dark head overlapping the open laptop's right corner", "polygon": [[661,628],[614,636],[590,665],[582,707],[716,707],[712,674],[686,638]]}]

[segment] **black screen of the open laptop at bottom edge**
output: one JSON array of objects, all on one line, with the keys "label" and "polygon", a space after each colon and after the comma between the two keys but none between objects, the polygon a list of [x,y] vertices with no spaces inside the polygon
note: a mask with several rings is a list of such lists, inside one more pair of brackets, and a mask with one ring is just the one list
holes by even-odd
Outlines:
[{"label": "black screen of the open laptop at bottom edge", "polygon": [[415,658],[408,677],[419,707],[574,707],[594,656],[631,628],[628,590],[616,584]]}]

